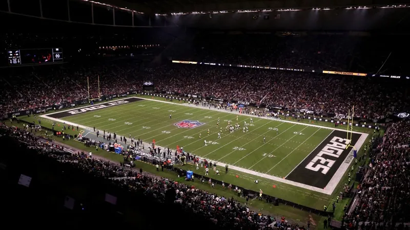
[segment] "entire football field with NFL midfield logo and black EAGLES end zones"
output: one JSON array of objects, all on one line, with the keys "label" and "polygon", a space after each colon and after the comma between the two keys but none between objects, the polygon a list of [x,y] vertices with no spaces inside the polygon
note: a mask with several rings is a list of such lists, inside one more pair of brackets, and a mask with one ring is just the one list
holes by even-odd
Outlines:
[{"label": "entire football field with NFL midfield logo and black EAGLES end zones", "polygon": [[[115,132],[118,140],[119,136],[131,135],[146,143],[155,140],[156,146],[183,147],[250,178],[277,181],[325,197],[334,192],[353,159],[352,148],[346,149],[350,141],[340,129],[257,118],[235,110],[177,104],[165,99],[129,97],[42,117],[78,125],[84,130],[83,135],[90,138],[96,137],[95,127],[100,135],[103,130]],[[230,132],[226,130],[228,122],[241,128]],[[245,122],[248,131],[243,132]],[[354,132],[350,145],[359,150],[366,137],[367,133]],[[203,171],[194,167],[192,170]]]}]

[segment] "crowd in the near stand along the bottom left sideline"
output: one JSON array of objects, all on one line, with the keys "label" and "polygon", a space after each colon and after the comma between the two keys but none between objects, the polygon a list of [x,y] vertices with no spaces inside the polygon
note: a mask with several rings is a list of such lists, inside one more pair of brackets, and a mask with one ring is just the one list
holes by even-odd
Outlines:
[{"label": "crowd in the near stand along the bottom left sideline", "polygon": [[[280,229],[306,229],[305,226],[283,222],[273,216],[255,212],[233,197],[218,196],[212,192],[196,189],[194,186],[144,173],[142,169],[132,170],[121,167],[104,159],[89,157],[84,152],[67,152],[63,146],[48,143],[25,129],[0,124],[0,134],[14,137],[20,144],[36,149],[38,154],[54,158],[61,164],[107,179],[119,188],[143,192],[146,196],[154,197],[157,202],[166,202],[171,197],[172,202],[181,205],[190,213],[195,213],[198,217],[209,220],[214,224],[213,226],[224,229],[260,229],[265,226],[264,229],[269,230],[273,229],[272,225],[274,225]],[[270,224],[271,226],[268,226]]]}]

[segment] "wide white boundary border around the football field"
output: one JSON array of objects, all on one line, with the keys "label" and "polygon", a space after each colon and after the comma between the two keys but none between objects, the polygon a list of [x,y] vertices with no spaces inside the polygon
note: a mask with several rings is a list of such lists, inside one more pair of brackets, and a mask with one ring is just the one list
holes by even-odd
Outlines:
[{"label": "wide white boundary border around the football field", "polygon": [[[130,98],[131,98],[131,97],[130,97]],[[139,98],[139,97],[134,97],[134,98]],[[177,103],[172,103],[172,102],[167,102],[167,101],[159,101],[159,100],[154,100],[154,99],[146,99],[146,98],[139,98],[139,99],[144,99],[144,100],[149,100],[149,101],[157,101],[157,102],[162,102],[162,103],[169,103],[169,104],[175,104],[175,105],[181,105],[181,106],[189,106],[189,107],[192,107],[192,106],[186,105],[186,104],[177,104]],[[121,101],[121,100],[126,100],[126,98],[120,99],[120,100],[116,100],[116,101]],[[111,102],[114,102],[114,101],[111,101]],[[90,107],[90,106],[94,106],[94,105],[88,105],[88,106],[79,107],[79,108],[85,108],[85,107]],[[75,109],[79,109],[79,108],[75,108]],[[206,108],[206,107],[204,107],[204,108],[198,107],[198,108],[200,108],[200,109],[209,109],[209,108]],[[75,110],[75,109],[71,109],[71,110]],[[54,112],[54,113],[59,113],[59,112],[63,112],[63,111],[71,111],[71,110],[62,110],[62,111],[58,111],[58,112]],[[216,110],[216,111],[217,111],[217,110]],[[219,111],[232,113],[232,112],[224,111],[224,110],[219,110]],[[72,122],[67,122],[67,121],[64,121],[64,120],[61,120],[61,119],[50,118],[50,117],[47,116],[47,115],[54,114],[54,113],[44,114],[44,115],[41,115],[41,116],[39,116],[39,117],[46,118],[46,119],[50,119],[50,120],[57,121],[57,122],[61,122],[61,123],[64,123],[64,122],[65,122],[65,123],[67,123],[67,124],[75,125],[75,126],[78,126],[78,127],[80,127],[80,128],[87,129],[87,130],[93,130],[92,128],[87,127],[87,126],[75,124],[75,123],[72,123]],[[241,114],[241,115],[242,115],[242,116],[248,116],[248,117],[255,117],[255,118],[257,118],[257,116],[254,116],[254,115],[251,115],[251,114]],[[268,119],[268,118],[264,118],[264,117],[261,117],[261,118],[262,118],[262,119],[267,119],[267,120],[272,120],[272,119]],[[312,127],[317,127],[317,128],[325,128],[325,129],[343,131],[342,129],[335,129],[335,128],[331,128],[331,127],[323,127],[323,126],[319,126],[319,125],[304,124],[304,123],[298,123],[298,122],[292,122],[292,121],[286,121],[286,120],[280,120],[280,121],[281,121],[281,122],[288,122],[288,123],[298,124],[298,125],[305,125],[305,126],[312,126]],[[360,147],[363,145],[364,141],[366,140],[368,134],[367,134],[367,133],[362,133],[362,132],[356,132],[356,131],[353,131],[353,132],[354,132],[354,133],[361,134],[359,140],[358,140],[358,141],[356,142],[356,144],[355,144],[355,148],[356,148],[357,150],[359,150]],[[326,137],[326,138],[327,138],[327,137]],[[237,167],[237,166],[233,166],[233,165],[229,165],[229,164],[228,164],[228,167],[229,167],[230,169],[233,169],[233,170],[236,170],[236,171],[239,171],[239,172],[248,173],[248,174],[251,174],[251,175],[259,176],[259,177],[262,177],[262,178],[267,178],[267,179],[274,180],[274,181],[278,181],[278,182],[281,182],[281,183],[286,183],[287,185],[292,185],[292,186],[300,187],[300,188],[307,189],[307,190],[311,190],[311,191],[315,191],[315,192],[318,192],[318,193],[323,193],[323,194],[326,194],[326,195],[332,195],[332,193],[333,193],[333,191],[335,190],[336,186],[337,186],[338,183],[340,182],[340,179],[342,178],[344,172],[345,172],[346,169],[350,166],[350,163],[351,163],[351,162],[347,164],[347,163],[346,163],[346,159],[347,159],[348,157],[351,157],[351,155],[352,155],[352,153],[347,154],[346,158],[344,159],[344,162],[343,162],[342,165],[339,167],[339,169],[336,171],[336,173],[333,175],[332,179],[330,180],[330,182],[327,184],[327,186],[326,186],[324,189],[316,188],[316,187],[313,187],[313,186],[308,186],[308,185],[305,185],[305,184],[303,184],[303,183],[299,183],[299,182],[287,180],[287,179],[284,179],[284,178],[280,178],[280,177],[277,177],[277,176],[272,176],[272,175],[265,174],[265,173],[255,172],[255,171],[252,171],[252,170],[249,170],[249,169],[239,168],[239,167]],[[226,164],[219,163],[219,162],[217,163],[217,165],[218,165],[218,166],[221,166],[221,167],[225,167],[225,166],[226,166]]]}]

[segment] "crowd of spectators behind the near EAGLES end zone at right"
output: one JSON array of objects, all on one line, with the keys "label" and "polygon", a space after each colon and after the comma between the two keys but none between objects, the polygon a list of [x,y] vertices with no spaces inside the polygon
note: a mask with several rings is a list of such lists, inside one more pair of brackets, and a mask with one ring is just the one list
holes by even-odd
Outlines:
[{"label": "crowd of spectators behind the near EAGLES end zone at right", "polygon": [[408,222],[410,211],[410,122],[389,128],[384,141],[371,156],[370,171],[360,185],[355,209],[344,216],[351,226],[386,227]]}]

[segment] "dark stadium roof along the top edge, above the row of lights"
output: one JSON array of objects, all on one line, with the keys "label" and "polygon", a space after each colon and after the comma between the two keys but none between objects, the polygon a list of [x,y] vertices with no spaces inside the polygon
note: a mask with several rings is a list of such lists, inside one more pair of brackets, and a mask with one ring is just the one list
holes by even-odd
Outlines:
[{"label": "dark stadium roof along the top edge, above the row of lights", "polygon": [[[92,2],[88,0],[83,0]],[[406,0],[97,0],[95,2],[143,13],[190,13],[253,9],[309,9],[408,4]]]}]

